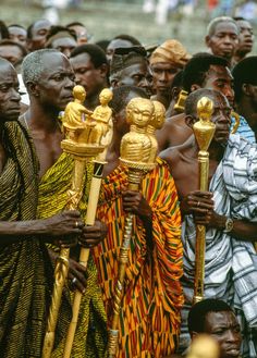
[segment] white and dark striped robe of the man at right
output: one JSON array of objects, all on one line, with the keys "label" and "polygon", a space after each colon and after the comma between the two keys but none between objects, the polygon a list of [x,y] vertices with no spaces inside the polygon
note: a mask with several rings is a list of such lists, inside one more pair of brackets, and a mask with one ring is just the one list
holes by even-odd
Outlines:
[{"label": "white and dark striped robe of the man at right", "polygon": [[[240,135],[231,135],[223,160],[210,183],[217,213],[257,222],[257,148]],[[186,314],[193,298],[195,224],[183,223],[186,306],[183,310],[181,344],[186,346]],[[257,256],[252,243],[233,238],[215,229],[206,235],[205,296],[228,301],[245,321],[243,357],[257,357]],[[255,341],[253,337],[255,336]]]}]

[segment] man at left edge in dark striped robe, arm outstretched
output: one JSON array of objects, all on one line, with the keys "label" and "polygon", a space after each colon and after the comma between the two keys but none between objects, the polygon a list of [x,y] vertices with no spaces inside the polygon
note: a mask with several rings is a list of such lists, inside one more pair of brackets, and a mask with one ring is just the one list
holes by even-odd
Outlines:
[{"label": "man at left edge in dark striped robe, arm outstretched", "polygon": [[[0,59],[0,351],[40,358],[53,275],[45,243],[69,244],[83,222],[77,211],[36,220],[38,161],[17,121],[17,90],[14,67]],[[61,314],[59,340],[68,319]]]}]

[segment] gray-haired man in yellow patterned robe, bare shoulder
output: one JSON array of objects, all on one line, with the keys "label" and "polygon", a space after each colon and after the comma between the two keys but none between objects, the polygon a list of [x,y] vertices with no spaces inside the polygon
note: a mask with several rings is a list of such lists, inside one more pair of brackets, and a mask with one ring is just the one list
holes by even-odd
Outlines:
[{"label": "gray-haired man in yellow patterned robe, bare shoulder", "polygon": [[[58,115],[69,102],[74,101],[72,96],[74,78],[69,60],[56,50],[35,51],[23,62],[23,79],[29,95],[30,107],[21,121],[32,135],[40,162],[38,218],[48,218],[63,210],[68,201],[66,192],[71,187],[73,159],[62,152],[63,134]],[[90,166],[85,173],[83,197],[78,208],[82,218],[86,212],[89,174]],[[79,244],[91,247],[105,237],[106,225],[97,221],[93,226],[83,226],[82,232]],[[72,357],[103,357],[107,341],[106,314],[97,284],[97,271],[91,259],[87,269],[76,262],[79,254],[77,251],[79,245],[72,252],[75,260],[70,259],[69,277],[72,288],[78,288],[85,294]],[[71,306],[69,313],[71,319]],[[66,320],[65,323],[51,357],[63,355],[70,321]]]}]

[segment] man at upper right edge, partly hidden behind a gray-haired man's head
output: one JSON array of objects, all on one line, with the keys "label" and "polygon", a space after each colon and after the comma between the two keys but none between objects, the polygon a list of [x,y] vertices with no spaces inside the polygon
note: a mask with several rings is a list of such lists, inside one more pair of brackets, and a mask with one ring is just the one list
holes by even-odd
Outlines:
[{"label": "man at upper right edge, partly hidden behind a gray-haired man's head", "polygon": [[250,23],[244,17],[234,17],[238,28],[240,28],[240,36],[238,36],[238,45],[235,49],[235,53],[233,57],[233,65],[237,62],[243,60],[246,54],[248,54],[253,50],[254,46],[254,30]]}]

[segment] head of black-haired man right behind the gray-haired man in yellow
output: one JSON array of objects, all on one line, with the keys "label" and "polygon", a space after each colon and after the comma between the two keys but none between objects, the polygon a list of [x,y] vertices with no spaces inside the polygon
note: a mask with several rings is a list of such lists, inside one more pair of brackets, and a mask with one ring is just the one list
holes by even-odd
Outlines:
[{"label": "head of black-haired man right behind the gray-haired man in yellow", "polygon": [[93,44],[78,46],[71,53],[76,84],[86,90],[85,107],[91,111],[100,104],[100,91],[108,87],[108,62],[103,50]]}]

